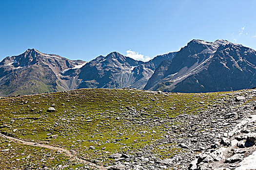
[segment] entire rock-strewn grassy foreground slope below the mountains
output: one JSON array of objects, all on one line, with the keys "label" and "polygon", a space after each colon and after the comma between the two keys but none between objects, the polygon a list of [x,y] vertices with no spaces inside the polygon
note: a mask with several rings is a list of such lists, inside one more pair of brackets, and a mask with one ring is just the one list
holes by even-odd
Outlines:
[{"label": "entire rock-strewn grassy foreground slope below the mountains", "polygon": [[96,92],[1,99],[1,169],[255,170],[254,89]]}]

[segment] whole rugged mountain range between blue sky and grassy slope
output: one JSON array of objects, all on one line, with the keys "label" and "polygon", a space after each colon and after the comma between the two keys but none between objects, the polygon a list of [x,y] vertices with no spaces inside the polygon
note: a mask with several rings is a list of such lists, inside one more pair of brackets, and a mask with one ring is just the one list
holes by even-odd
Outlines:
[{"label": "whole rugged mountain range between blue sky and grassy slope", "polygon": [[192,40],[148,62],[118,52],[85,62],[28,49],[0,62],[0,96],[78,88],[165,92],[233,91],[256,86],[256,51],[226,40]]}]

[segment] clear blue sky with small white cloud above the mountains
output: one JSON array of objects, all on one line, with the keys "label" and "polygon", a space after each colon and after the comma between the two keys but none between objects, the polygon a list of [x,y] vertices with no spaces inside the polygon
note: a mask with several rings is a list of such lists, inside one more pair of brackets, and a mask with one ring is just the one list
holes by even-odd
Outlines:
[{"label": "clear blue sky with small white cloud above the mountains", "polygon": [[28,48],[148,60],[192,39],[256,49],[256,0],[0,0],[0,60]]}]

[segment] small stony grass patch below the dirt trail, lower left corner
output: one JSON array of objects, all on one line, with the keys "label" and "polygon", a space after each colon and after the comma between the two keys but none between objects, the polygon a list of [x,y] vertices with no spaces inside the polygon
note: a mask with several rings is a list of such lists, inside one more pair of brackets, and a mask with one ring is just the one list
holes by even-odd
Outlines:
[{"label": "small stony grass patch below the dirt trail, lower left corner", "polygon": [[21,170],[25,168],[38,169],[46,167],[58,167],[63,164],[68,164],[68,167],[63,167],[63,170],[69,168],[77,168],[83,165],[71,161],[69,157],[49,149],[27,146],[14,143],[9,140],[0,138],[0,150],[9,149],[0,153],[1,170]]}]

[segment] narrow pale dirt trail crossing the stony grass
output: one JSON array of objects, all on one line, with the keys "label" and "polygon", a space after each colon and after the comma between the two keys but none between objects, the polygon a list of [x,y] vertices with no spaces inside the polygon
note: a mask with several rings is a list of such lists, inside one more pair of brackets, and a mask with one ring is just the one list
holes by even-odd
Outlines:
[{"label": "narrow pale dirt trail crossing the stony grass", "polygon": [[104,167],[98,166],[95,163],[92,163],[90,161],[79,158],[78,156],[72,154],[67,149],[63,149],[63,148],[60,148],[60,147],[54,147],[54,146],[41,144],[41,143],[36,143],[36,142],[29,142],[29,141],[17,139],[15,137],[6,136],[6,135],[3,135],[3,134],[0,134],[0,137],[10,139],[13,142],[20,143],[20,144],[23,144],[23,145],[37,146],[37,147],[47,148],[47,149],[51,149],[51,150],[56,150],[56,151],[59,151],[61,153],[66,154],[67,156],[69,156],[71,158],[71,160],[77,161],[77,162],[82,163],[82,164],[86,164],[86,165],[88,165],[88,166],[90,166],[91,168],[94,168],[94,169],[97,168],[98,170],[106,170],[106,168],[104,168]]}]

